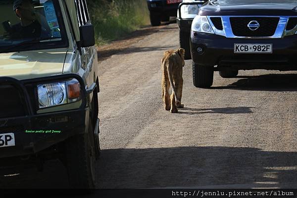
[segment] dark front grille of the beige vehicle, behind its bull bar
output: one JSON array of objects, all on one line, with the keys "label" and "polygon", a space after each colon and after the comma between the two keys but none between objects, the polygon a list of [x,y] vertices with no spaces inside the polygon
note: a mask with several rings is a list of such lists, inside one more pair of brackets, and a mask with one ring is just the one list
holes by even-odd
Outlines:
[{"label": "dark front grille of the beige vehicle, behind its bull bar", "polygon": [[0,119],[25,116],[25,106],[19,92],[11,85],[0,86]]}]

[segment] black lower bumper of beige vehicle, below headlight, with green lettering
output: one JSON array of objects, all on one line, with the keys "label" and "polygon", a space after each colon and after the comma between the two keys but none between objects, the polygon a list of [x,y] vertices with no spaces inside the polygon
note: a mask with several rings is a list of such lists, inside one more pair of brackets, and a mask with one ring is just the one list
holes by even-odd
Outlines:
[{"label": "black lower bumper of beige vehicle, below headlight, with green lettering", "polygon": [[37,116],[0,119],[0,123],[5,123],[5,125],[1,125],[0,131],[13,133],[15,142],[15,146],[0,148],[0,158],[32,155],[62,142],[68,137],[84,133],[88,126],[88,115],[89,109],[86,108]]}]

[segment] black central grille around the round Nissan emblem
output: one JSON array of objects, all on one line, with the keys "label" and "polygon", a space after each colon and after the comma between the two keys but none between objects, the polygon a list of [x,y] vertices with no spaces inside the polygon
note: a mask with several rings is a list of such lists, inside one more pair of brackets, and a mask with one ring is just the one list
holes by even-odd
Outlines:
[{"label": "black central grille around the round Nissan emblem", "polygon": [[[247,27],[253,20],[260,24],[255,31]],[[238,37],[271,37],[275,34],[279,20],[279,17],[230,17],[232,32]]]}]

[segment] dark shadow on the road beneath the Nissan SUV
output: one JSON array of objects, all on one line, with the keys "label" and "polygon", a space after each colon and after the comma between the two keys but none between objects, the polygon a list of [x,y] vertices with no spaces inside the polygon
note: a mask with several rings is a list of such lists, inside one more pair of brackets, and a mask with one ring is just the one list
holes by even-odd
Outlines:
[{"label": "dark shadow on the road beneath the Nissan SUV", "polygon": [[227,86],[210,89],[236,89],[253,91],[297,91],[297,74],[268,74],[260,76],[237,76],[238,81]]}]

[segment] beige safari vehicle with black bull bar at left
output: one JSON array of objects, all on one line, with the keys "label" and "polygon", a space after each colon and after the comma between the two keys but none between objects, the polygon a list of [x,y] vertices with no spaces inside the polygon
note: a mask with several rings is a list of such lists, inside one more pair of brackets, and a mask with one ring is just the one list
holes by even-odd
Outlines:
[{"label": "beige safari vehicle with black bull bar at left", "polygon": [[95,187],[97,50],[86,0],[0,0],[1,168],[60,159]]}]

